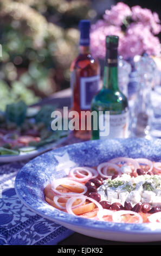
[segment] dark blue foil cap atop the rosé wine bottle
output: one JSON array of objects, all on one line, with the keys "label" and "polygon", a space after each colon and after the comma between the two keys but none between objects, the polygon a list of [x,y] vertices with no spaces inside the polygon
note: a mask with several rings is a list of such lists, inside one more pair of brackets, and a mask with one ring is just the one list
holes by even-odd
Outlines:
[{"label": "dark blue foil cap atop the ros\u00e9 wine bottle", "polygon": [[90,32],[90,21],[81,20],[79,23],[80,29],[80,45],[88,46],[89,45],[89,32]]}]

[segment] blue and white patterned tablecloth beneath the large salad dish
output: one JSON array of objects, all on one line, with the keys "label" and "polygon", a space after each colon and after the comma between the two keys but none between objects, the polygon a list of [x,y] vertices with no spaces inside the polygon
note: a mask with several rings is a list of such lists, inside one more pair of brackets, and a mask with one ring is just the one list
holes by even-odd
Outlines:
[{"label": "blue and white patterned tablecloth beneath the large salad dish", "polygon": [[73,231],[35,214],[21,203],[14,181],[24,164],[0,166],[0,245],[56,245]]}]

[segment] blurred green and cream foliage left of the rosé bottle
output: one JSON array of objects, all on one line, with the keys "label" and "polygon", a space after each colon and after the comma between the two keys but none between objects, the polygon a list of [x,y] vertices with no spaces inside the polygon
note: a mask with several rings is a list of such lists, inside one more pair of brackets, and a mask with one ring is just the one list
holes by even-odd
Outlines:
[{"label": "blurred green and cream foliage left of the ros\u00e9 bottle", "polygon": [[0,0],[0,109],[28,105],[69,87],[69,67],[78,54],[80,19],[88,0]]}]

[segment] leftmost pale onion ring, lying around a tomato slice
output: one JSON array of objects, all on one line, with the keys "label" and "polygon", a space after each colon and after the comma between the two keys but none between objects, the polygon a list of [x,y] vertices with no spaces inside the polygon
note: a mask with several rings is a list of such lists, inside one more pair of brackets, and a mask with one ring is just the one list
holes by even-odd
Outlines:
[{"label": "leftmost pale onion ring, lying around a tomato slice", "polygon": [[[75,192],[67,192],[67,193],[61,193],[59,191],[56,190],[56,188],[59,185],[63,185],[63,184],[74,184],[77,185],[78,187],[82,187],[83,188],[83,192],[81,193],[75,193]],[[65,196],[65,197],[73,197],[73,196],[79,196],[81,194],[85,194],[87,192],[87,187],[79,182],[76,182],[75,180],[72,180],[70,178],[62,178],[62,179],[57,179],[57,180],[53,180],[51,181],[51,189],[56,193],[56,194],[60,194],[61,196]]]}]

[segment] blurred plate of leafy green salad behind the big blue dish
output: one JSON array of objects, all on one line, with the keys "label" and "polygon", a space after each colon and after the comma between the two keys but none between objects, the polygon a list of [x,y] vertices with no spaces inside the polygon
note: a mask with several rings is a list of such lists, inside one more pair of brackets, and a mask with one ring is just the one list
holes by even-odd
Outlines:
[{"label": "blurred plate of leafy green salad behind the big blue dish", "polygon": [[67,131],[51,130],[53,105],[28,107],[23,101],[7,105],[0,113],[0,159],[28,154],[67,136]]}]

